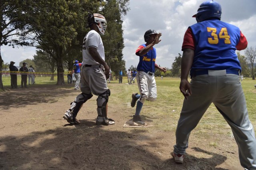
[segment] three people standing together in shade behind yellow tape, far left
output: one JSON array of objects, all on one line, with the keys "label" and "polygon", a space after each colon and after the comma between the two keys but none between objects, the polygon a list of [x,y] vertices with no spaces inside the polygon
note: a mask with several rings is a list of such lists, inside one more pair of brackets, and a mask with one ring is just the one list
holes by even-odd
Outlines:
[{"label": "three people standing together in shade behind yellow tape, far left", "polygon": [[[10,70],[10,76],[11,76],[11,88],[12,89],[18,89],[17,85],[17,74],[21,75],[21,88],[25,87],[27,88],[27,79],[28,79],[28,85],[35,84],[35,71],[34,67],[32,65],[29,66],[29,69],[26,67],[27,63],[22,63],[22,67],[18,69],[16,66],[14,66],[15,62],[11,61],[9,70]],[[20,71],[20,73],[17,73],[16,71]],[[27,73],[29,72],[29,73]]]}]

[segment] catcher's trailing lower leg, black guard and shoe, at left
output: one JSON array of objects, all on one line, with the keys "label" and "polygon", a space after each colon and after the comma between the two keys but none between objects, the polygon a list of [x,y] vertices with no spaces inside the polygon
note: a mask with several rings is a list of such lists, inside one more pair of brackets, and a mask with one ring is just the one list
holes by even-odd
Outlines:
[{"label": "catcher's trailing lower leg, black guard and shoe, at left", "polygon": [[74,124],[74,121],[76,120],[76,115],[78,113],[78,111],[81,109],[82,105],[89,100],[90,98],[92,98],[92,93],[90,94],[85,94],[85,93],[81,93],[80,95],[78,95],[75,99],[74,102],[70,103],[71,107],[68,111],[66,111],[65,115],[64,115],[64,119],[66,119],[69,123]]}]

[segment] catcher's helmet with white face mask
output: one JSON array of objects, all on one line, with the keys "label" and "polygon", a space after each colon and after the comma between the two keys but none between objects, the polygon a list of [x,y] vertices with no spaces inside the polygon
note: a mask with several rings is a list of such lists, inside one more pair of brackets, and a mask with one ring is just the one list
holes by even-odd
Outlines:
[{"label": "catcher's helmet with white face mask", "polygon": [[87,18],[88,26],[86,28],[89,28],[92,24],[96,24],[99,28],[100,34],[104,35],[105,30],[107,28],[107,21],[105,17],[101,14],[89,14]]}]

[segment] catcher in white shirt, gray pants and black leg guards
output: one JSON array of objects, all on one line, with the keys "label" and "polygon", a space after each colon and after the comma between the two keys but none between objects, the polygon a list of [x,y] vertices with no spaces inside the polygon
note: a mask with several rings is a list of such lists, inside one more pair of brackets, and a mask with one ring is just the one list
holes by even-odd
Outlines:
[{"label": "catcher in white shirt, gray pants and black leg guards", "polygon": [[110,96],[107,79],[110,68],[105,62],[104,46],[100,37],[100,34],[104,35],[106,30],[106,19],[101,14],[89,14],[87,21],[86,28],[90,27],[90,31],[84,37],[82,48],[83,63],[80,86],[82,93],[71,103],[70,109],[66,111],[63,118],[71,124],[79,124],[76,115],[82,105],[94,94],[98,96],[96,124],[113,125],[114,120],[107,117],[108,97]]}]

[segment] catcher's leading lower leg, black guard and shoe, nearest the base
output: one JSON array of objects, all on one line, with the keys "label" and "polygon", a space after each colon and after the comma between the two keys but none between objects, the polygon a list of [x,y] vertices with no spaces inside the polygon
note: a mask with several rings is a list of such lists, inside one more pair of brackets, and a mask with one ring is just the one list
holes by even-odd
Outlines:
[{"label": "catcher's leading lower leg, black guard and shoe, nearest the base", "polygon": [[107,118],[107,108],[106,105],[108,103],[108,96],[110,96],[110,89],[100,94],[97,98],[97,112],[98,117],[96,119],[97,125],[112,125],[114,121],[112,119]]}]

